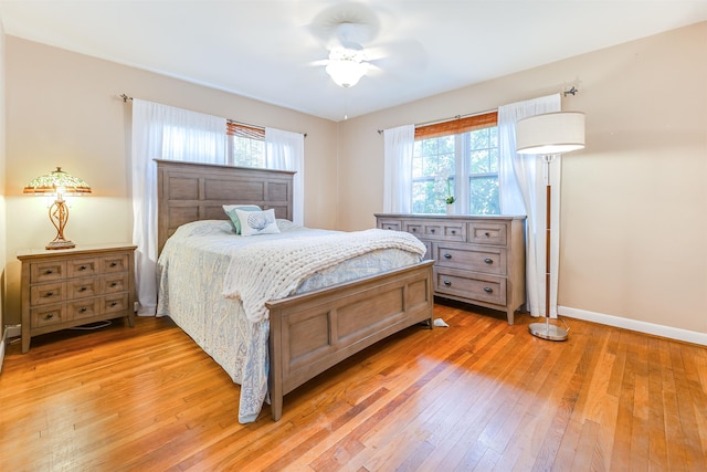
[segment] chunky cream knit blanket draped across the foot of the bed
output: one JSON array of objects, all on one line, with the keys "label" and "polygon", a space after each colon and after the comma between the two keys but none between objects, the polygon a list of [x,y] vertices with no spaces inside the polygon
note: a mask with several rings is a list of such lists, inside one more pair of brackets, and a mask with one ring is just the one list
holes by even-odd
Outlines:
[{"label": "chunky cream knit blanket draped across the foot of the bed", "polygon": [[265,302],[293,294],[307,276],[388,248],[425,253],[424,244],[412,234],[380,229],[249,244],[231,253],[223,296],[240,300],[246,317],[257,323],[270,316]]}]

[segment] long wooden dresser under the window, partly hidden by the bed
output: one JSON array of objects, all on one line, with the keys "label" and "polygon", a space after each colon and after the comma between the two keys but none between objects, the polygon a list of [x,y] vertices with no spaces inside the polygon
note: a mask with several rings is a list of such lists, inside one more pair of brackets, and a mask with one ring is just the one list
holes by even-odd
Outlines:
[{"label": "long wooden dresser under the window, partly hidden by the bed", "polygon": [[526,302],[526,217],[376,214],[377,227],[407,231],[434,260],[434,294],[506,312]]}]

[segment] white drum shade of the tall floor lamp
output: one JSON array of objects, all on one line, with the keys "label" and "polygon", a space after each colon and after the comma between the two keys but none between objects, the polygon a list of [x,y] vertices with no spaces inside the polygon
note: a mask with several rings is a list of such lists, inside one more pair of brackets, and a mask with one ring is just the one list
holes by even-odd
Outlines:
[{"label": "white drum shade of the tall floor lamp", "polygon": [[584,148],[584,114],[557,112],[516,123],[516,153],[561,154]]}]

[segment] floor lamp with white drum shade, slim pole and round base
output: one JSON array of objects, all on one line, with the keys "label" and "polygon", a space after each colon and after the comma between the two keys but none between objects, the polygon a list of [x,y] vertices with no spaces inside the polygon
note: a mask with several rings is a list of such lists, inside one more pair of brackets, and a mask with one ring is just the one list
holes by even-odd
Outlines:
[{"label": "floor lamp with white drum shade, slim pole and round base", "polygon": [[584,114],[546,113],[516,123],[516,153],[542,156],[547,167],[545,239],[545,323],[531,323],[530,334],[542,339],[566,340],[567,329],[550,325],[550,164],[558,154],[584,148]]}]

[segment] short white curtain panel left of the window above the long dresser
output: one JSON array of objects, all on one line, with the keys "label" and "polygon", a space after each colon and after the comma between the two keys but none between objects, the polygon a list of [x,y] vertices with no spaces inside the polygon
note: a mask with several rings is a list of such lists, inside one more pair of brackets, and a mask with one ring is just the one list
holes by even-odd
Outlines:
[{"label": "short white curtain panel left of the window above the long dresser", "polygon": [[412,212],[412,154],[415,144],[415,125],[404,125],[383,130],[383,211],[386,213]]}]

